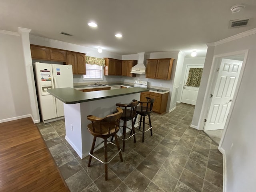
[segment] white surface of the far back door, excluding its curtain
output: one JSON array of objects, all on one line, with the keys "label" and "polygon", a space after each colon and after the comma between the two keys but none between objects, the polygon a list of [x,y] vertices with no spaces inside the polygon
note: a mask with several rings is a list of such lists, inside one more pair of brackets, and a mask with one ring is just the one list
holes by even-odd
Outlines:
[{"label": "white surface of the far back door, excluding its curtain", "polygon": [[199,87],[186,86],[190,68],[204,68],[204,66],[193,66],[193,65],[187,66],[181,102],[186,104],[196,105],[196,99],[197,99]]}]

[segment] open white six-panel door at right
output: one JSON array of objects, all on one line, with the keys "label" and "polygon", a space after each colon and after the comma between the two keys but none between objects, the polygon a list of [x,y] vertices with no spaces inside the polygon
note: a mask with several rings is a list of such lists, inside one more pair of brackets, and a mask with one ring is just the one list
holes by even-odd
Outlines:
[{"label": "open white six-panel door at right", "polygon": [[222,59],[205,131],[224,128],[241,68],[242,61]]}]

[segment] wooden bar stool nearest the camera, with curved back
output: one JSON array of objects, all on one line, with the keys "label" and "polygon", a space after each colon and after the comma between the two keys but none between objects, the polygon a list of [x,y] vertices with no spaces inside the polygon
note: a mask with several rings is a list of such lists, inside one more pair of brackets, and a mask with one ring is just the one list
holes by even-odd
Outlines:
[{"label": "wooden bar stool nearest the camera, with curved back", "polygon": [[[88,167],[90,167],[90,165],[91,165],[92,157],[95,158],[96,160],[102,162],[105,165],[105,180],[108,180],[108,163],[117,154],[119,154],[121,162],[123,161],[122,154],[121,154],[121,148],[119,146],[118,139],[116,136],[116,133],[119,130],[120,118],[122,116],[123,110],[120,107],[116,108],[116,110],[117,110],[116,113],[110,114],[104,118],[100,118],[100,117],[96,117],[96,116],[92,116],[92,115],[87,116],[87,119],[92,121],[91,124],[88,124],[87,129],[90,132],[90,134],[92,134],[94,136],[93,142],[92,142],[92,148],[89,152],[90,158],[89,158],[89,162],[88,162]],[[110,136],[115,137],[116,144],[107,140]],[[96,142],[97,137],[104,139],[104,141],[102,141],[100,143],[100,144],[102,144],[104,142],[104,158],[105,158],[104,161],[100,160],[99,158],[97,158],[96,156],[93,155],[94,148],[97,148],[98,146],[100,146],[100,144],[98,144],[95,147],[95,142]],[[118,149],[118,152],[109,161],[108,161],[108,152],[107,152],[107,144],[108,143],[116,145],[117,149]]]}]

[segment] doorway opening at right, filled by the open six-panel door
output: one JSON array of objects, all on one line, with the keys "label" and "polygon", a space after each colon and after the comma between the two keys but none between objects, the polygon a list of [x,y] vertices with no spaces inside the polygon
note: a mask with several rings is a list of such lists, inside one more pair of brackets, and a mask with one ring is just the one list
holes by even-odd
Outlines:
[{"label": "doorway opening at right, filled by the open six-panel door", "polygon": [[208,112],[204,122],[204,131],[209,136],[211,132],[222,136],[222,134],[218,134],[218,130],[223,131],[230,107],[236,97],[243,60],[244,54],[216,59],[217,68],[210,89],[212,91],[209,96]]}]

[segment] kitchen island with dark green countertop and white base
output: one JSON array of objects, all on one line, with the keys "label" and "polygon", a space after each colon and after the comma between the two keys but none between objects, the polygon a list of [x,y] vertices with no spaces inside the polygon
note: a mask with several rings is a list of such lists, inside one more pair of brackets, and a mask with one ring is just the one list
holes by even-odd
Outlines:
[{"label": "kitchen island with dark green countertop and white base", "polygon": [[[64,103],[65,139],[80,158],[88,156],[93,136],[88,132],[88,115],[104,117],[116,111],[116,103],[128,104],[133,99],[140,100],[140,93],[148,88],[129,88],[81,92],[73,88],[56,88],[47,90]],[[122,125],[122,121],[120,124]],[[100,140],[96,140],[100,143]]]}]

